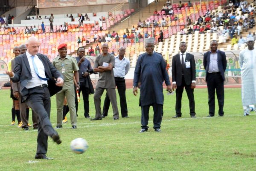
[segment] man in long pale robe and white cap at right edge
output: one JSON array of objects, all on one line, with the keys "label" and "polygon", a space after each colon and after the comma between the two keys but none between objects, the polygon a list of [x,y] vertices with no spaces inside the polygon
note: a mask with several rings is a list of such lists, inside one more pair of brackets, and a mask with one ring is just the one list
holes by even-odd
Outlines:
[{"label": "man in long pale robe and white cap at right edge", "polygon": [[247,38],[247,46],[239,54],[244,116],[249,116],[249,105],[256,105],[256,49],[253,37]]}]

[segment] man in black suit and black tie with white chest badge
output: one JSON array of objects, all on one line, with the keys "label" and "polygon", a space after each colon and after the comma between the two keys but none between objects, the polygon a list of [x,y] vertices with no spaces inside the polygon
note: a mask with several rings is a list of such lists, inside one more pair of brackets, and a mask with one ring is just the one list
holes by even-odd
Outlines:
[{"label": "man in black suit and black tie with white chest badge", "polygon": [[181,99],[185,87],[189,98],[190,117],[195,117],[195,59],[194,55],[186,52],[186,43],[180,43],[180,53],[172,57],[172,88],[176,88],[176,115],[181,117]]}]

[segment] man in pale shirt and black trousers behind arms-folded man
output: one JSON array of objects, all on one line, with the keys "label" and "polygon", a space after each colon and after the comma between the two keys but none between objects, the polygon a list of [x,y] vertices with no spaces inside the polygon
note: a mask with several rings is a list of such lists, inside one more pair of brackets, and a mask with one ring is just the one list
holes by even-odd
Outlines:
[{"label": "man in pale shirt and black trousers behind arms-folded man", "polygon": [[[130,69],[130,61],[128,58],[124,57],[125,55],[124,47],[121,46],[118,52],[119,52],[119,55],[115,57],[115,68],[113,68],[113,71],[114,71],[117,91],[120,98],[121,115],[122,117],[128,117],[128,110],[127,110],[127,103],[126,103],[126,96],[125,96],[125,90],[126,90],[125,75],[128,73]],[[110,99],[107,93],[104,101],[102,117],[108,116],[109,105],[110,105]]]}]

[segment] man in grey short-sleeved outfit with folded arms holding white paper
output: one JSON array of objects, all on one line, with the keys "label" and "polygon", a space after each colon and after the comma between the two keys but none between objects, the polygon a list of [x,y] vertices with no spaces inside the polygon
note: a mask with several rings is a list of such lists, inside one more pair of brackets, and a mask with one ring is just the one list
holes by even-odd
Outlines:
[{"label": "man in grey short-sleeved outfit with folded arms holding white paper", "polygon": [[95,118],[91,120],[102,120],[101,96],[106,89],[108,97],[113,108],[113,119],[119,119],[119,112],[116,103],[116,84],[114,79],[113,67],[115,66],[115,57],[108,53],[108,44],[102,45],[102,54],[96,57],[93,71],[99,72],[99,80],[94,94],[94,105],[96,110]]}]

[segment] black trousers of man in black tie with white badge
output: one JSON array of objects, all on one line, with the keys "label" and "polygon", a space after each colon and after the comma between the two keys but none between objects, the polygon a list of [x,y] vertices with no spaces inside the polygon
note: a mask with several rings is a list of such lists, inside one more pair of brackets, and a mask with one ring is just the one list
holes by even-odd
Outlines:
[{"label": "black trousers of man in black tie with white badge", "polygon": [[175,111],[176,115],[181,117],[181,99],[183,90],[186,90],[186,94],[189,98],[189,114],[190,116],[195,116],[195,99],[194,99],[194,89],[190,88],[191,85],[186,85],[184,77],[182,76],[182,82],[180,86],[177,86],[176,88],[176,105],[175,105]]}]

